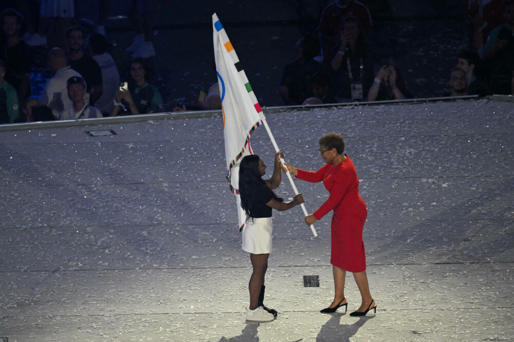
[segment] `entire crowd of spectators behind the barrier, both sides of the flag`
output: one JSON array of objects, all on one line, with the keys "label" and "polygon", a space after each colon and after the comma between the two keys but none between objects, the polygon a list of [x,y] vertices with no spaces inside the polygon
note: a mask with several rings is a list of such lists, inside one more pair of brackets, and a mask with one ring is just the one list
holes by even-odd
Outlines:
[{"label": "entire crowd of spectators behind the barrier, both sides of the flag", "polygon": [[[74,21],[73,0],[44,1],[39,27],[27,2],[0,14],[0,124],[70,120],[162,111],[163,99],[147,65],[155,1],[132,0],[132,61],[126,75],[108,51],[103,22],[109,2],[99,2],[99,26],[88,33]],[[84,4],[83,2],[81,4]],[[448,70],[446,96],[514,94],[514,0],[466,0],[469,49]],[[25,6],[24,6],[25,5]],[[20,13],[23,12],[24,15]],[[26,33],[22,23],[26,20]],[[45,34],[46,33],[46,34]],[[320,16],[316,32],[297,43],[298,57],[284,67],[278,92],[286,105],[316,105],[413,98],[391,58],[376,61],[370,48],[372,15],[355,0],[335,0]],[[31,97],[32,46],[47,48],[52,73],[39,98]],[[126,81],[120,83],[120,81]],[[436,94],[434,94],[436,95]],[[197,103],[174,111],[221,109],[217,84],[202,89]]]}]

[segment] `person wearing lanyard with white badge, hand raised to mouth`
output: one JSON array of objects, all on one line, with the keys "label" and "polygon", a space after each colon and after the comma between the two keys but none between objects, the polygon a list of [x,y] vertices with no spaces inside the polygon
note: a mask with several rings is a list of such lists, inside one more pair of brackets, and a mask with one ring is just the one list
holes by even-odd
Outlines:
[{"label": "person wearing lanyard with white badge, hand raised to mouth", "polygon": [[373,83],[373,64],[357,18],[344,19],[339,41],[331,62],[336,98],[339,102],[362,101]]}]

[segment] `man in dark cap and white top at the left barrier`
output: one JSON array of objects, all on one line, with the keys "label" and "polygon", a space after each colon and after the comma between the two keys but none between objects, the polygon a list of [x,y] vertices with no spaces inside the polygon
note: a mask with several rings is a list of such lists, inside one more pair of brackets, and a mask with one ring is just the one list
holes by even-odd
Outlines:
[{"label": "man in dark cap and white top at the left barrier", "polygon": [[66,82],[68,97],[72,105],[59,114],[60,120],[78,120],[103,117],[102,113],[85,102],[86,81],[79,76],[73,76]]}]

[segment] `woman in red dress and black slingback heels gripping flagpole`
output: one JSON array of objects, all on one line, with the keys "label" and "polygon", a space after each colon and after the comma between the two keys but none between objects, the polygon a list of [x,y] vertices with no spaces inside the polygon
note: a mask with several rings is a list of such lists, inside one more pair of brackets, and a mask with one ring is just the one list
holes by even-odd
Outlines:
[{"label": "woman in red dress and black slingback heels gripping flagpole", "polygon": [[362,228],[368,210],[359,195],[359,178],[350,157],[344,152],[344,140],[336,133],[325,134],[319,139],[320,153],[326,165],[316,172],[304,171],[286,164],[290,173],[307,182],[317,183],[323,180],[330,193],[326,202],[313,214],[305,217],[307,226],[314,224],[334,210],[332,216],[331,236],[332,250],[330,263],[334,274],[335,296],[332,304],[321,313],[335,312],[344,306],[344,280],[346,271],[354,274],[355,282],[362,297],[360,307],[351,316],[364,316],[368,311],[377,311],[375,300],[371,297],[368,277],[366,276],[366,256],[362,241]]}]

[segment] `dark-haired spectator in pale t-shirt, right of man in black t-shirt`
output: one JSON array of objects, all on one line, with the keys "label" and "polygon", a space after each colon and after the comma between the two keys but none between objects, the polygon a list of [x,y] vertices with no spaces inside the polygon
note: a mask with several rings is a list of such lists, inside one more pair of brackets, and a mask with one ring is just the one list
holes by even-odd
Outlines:
[{"label": "dark-haired spectator in pale t-shirt, right of man in black t-shirt", "polygon": [[105,116],[113,109],[113,100],[120,86],[120,74],[111,54],[107,52],[107,39],[100,33],[87,37],[86,51],[95,59],[102,70],[102,96],[95,103]]}]

